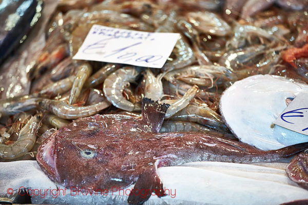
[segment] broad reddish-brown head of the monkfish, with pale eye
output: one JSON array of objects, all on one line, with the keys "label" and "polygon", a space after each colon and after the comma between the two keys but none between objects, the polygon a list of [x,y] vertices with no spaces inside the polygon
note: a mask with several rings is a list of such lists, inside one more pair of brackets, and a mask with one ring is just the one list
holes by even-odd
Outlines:
[{"label": "broad reddish-brown head of the monkfish, with pale eye", "polygon": [[137,180],[126,148],[119,147],[121,139],[96,128],[74,132],[71,126],[53,133],[38,149],[38,165],[51,180],[67,188],[107,190]]}]

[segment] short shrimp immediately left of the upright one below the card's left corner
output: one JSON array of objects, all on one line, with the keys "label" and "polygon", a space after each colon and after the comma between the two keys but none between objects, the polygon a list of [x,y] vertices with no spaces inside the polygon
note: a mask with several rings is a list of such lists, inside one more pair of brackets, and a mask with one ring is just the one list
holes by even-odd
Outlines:
[{"label": "short shrimp immediately left of the upright one below the card's left corner", "polygon": [[46,95],[48,97],[55,97],[57,95],[62,95],[63,93],[66,93],[72,88],[74,80],[75,80],[75,76],[69,76],[62,80],[59,80],[52,85],[48,85],[44,87],[38,93],[38,95],[40,96]]}]

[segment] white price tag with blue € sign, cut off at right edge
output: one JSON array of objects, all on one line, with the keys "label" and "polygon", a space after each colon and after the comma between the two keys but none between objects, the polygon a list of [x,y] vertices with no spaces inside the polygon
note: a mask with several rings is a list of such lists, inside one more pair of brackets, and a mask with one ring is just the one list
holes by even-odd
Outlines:
[{"label": "white price tag with blue \u20ac sign, cut off at right edge", "polygon": [[308,135],[308,93],[299,93],[274,124]]}]

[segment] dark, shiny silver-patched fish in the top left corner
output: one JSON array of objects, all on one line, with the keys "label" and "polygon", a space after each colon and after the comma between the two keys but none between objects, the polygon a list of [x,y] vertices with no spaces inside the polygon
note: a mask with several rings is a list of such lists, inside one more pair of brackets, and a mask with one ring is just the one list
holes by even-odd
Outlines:
[{"label": "dark, shiny silver-patched fish in the top left corner", "polygon": [[0,65],[41,16],[42,4],[42,0],[0,1]]}]

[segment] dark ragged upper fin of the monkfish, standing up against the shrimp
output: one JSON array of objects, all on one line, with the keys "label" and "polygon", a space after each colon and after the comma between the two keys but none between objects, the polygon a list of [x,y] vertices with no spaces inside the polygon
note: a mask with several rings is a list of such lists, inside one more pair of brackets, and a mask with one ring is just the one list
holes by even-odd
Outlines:
[{"label": "dark ragged upper fin of the monkfish, standing up against the shrimp", "polygon": [[153,101],[144,97],[142,99],[142,121],[147,126],[146,129],[152,133],[158,133],[168,108],[168,104],[159,103],[159,101]]}]

